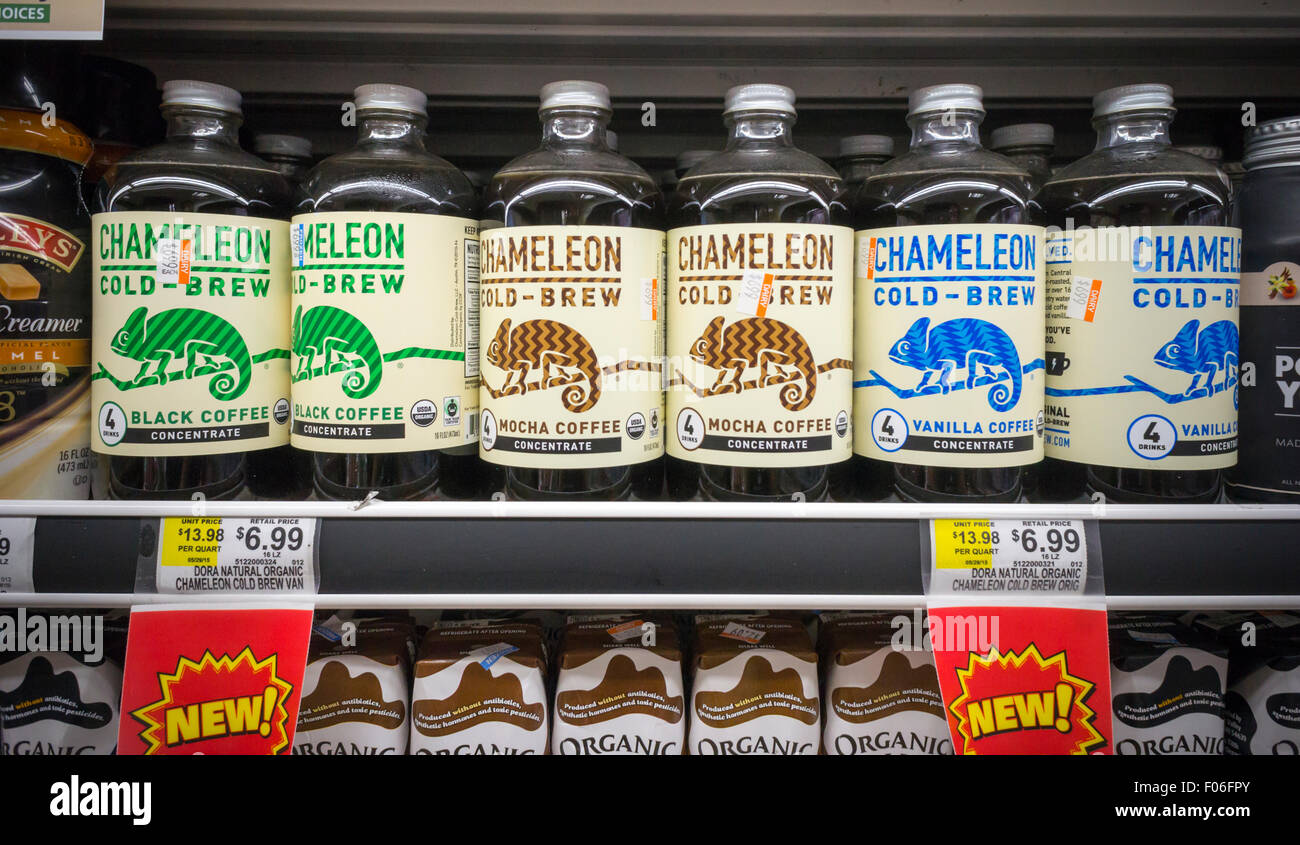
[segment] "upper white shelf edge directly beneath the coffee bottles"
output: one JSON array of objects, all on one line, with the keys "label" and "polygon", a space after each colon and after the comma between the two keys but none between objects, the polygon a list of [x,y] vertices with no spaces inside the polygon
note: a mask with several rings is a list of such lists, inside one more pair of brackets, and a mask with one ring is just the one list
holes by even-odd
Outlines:
[{"label": "upper white shelf edge directly beneath the coffee bottles", "polygon": [[0,516],[329,519],[1101,519],[1296,520],[1300,504],[914,504],[905,502],[0,502]]}]

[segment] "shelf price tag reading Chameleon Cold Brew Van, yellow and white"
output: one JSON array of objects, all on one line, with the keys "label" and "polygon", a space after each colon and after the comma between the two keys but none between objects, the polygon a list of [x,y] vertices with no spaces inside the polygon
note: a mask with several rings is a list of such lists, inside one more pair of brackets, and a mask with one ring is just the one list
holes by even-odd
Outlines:
[{"label": "shelf price tag reading Chameleon Cold Brew Van, yellow and white", "polygon": [[159,537],[159,593],[316,592],[313,519],[169,516]]}]

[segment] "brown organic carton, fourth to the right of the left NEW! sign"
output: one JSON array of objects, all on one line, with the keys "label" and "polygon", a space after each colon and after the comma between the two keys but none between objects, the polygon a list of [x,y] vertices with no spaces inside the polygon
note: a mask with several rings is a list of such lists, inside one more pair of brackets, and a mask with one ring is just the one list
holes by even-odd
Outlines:
[{"label": "brown organic carton, fourth to the right of the left NEW! sign", "polygon": [[816,653],[789,616],[696,619],[692,754],[816,754]]}]

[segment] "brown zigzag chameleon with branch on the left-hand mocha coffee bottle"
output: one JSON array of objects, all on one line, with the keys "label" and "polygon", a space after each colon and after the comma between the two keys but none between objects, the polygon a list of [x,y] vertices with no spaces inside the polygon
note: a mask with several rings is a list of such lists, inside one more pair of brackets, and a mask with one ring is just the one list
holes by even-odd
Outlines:
[{"label": "brown zigzag chameleon with branch on the left-hand mocha coffee bottle", "polygon": [[595,350],[582,333],[558,320],[525,320],[519,325],[512,325],[508,317],[502,320],[488,344],[486,358],[489,364],[506,370],[500,390],[482,382],[493,399],[558,387],[564,408],[573,413],[590,411],[601,400],[602,376],[660,368],[647,361],[619,361],[601,368]]}]

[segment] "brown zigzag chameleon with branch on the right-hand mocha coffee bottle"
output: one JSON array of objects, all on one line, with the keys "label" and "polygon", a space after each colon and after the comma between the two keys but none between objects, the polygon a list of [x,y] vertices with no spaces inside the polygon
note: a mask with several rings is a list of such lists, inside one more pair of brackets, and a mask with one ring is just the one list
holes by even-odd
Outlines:
[{"label": "brown zigzag chameleon with branch on the right-hand mocha coffee bottle", "polygon": [[[714,317],[705,332],[690,344],[690,359],[719,370],[712,387],[699,389],[679,373],[680,384],[698,396],[781,385],[780,399],[786,411],[802,411],[816,396],[816,377],[831,369],[853,369],[853,361],[835,358],[820,367],[803,335],[792,326],[771,317],[745,317],[725,325]],[[745,378],[745,370],[758,369],[757,378]]]}]

